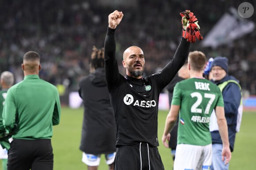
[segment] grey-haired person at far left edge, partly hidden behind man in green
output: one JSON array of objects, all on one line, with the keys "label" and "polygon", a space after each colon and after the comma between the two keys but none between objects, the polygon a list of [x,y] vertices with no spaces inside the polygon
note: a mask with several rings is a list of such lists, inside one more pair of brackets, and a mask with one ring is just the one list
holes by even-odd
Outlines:
[{"label": "grey-haired person at far left edge, partly hidden behind man in green", "polygon": [[[13,85],[14,83],[14,75],[12,72],[9,71],[4,71],[1,73],[0,76],[0,85],[1,85],[1,90],[0,90],[0,123],[2,125],[2,112],[4,109],[4,101],[7,95],[8,89]],[[4,130],[4,129],[3,129]],[[8,140],[8,139],[7,139]],[[8,150],[4,147],[4,145],[0,147],[0,159],[2,161],[2,168],[3,170],[7,170],[7,154]]]}]

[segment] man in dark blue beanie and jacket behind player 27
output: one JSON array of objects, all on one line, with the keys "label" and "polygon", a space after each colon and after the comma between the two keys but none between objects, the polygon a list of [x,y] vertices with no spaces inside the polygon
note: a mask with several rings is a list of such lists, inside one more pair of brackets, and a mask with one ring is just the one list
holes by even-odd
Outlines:
[{"label": "man in dark blue beanie and jacket behind player 27", "polygon": [[[239,81],[228,75],[228,59],[216,57],[211,63],[212,81],[222,91],[224,100],[225,117],[228,125],[230,151],[234,150],[235,136],[239,131],[241,113],[238,112],[241,104],[241,86]],[[224,164],[222,159],[222,140],[218,131],[217,121],[212,114],[210,131],[212,137],[212,170],[228,170],[229,164]]]}]

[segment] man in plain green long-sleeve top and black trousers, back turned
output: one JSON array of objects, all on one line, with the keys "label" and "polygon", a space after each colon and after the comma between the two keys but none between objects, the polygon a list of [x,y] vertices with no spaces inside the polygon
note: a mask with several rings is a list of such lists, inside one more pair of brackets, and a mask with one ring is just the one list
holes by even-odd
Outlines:
[{"label": "man in plain green long-sleeve top and black trousers, back turned", "polygon": [[57,88],[39,78],[40,56],[23,57],[24,80],[12,86],[5,99],[3,123],[13,141],[8,150],[8,170],[53,170],[51,138],[60,123]]}]

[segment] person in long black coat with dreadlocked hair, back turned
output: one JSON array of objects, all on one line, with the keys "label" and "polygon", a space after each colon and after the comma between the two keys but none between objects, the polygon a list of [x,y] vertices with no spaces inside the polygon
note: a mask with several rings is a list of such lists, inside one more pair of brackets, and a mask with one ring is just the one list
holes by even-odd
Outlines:
[{"label": "person in long black coat with dreadlocked hair, back turned", "polygon": [[90,74],[79,81],[79,96],[83,99],[83,127],[80,150],[88,170],[98,170],[105,154],[109,170],[114,168],[116,155],[116,125],[104,70],[104,48],[93,47]]}]

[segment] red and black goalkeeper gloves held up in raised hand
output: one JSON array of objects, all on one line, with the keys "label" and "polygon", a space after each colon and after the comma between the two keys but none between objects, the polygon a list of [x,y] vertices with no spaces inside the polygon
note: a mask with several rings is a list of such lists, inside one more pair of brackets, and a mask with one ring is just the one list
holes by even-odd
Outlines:
[{"label": "red and black goalkeeper gloves held up in raised hand", "polygon": [[184,37],[188,42],[196,42],[196,38],[198,40],[203,40],[203,36],[201,35],[198,25],[198,20],[193,12],[189,10],[185,10],[180,13],[182,19],[182,37]]}]

